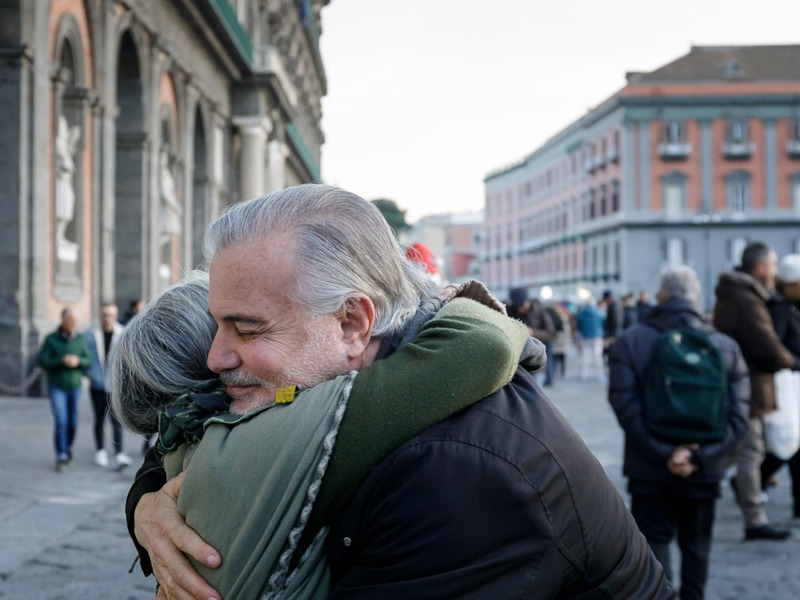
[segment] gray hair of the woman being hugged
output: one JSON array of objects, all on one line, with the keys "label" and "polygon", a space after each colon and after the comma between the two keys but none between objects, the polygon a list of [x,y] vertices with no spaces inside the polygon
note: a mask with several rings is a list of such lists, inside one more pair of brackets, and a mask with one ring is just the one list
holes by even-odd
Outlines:
[{"label": "gray hair of the woman being hugged", "polygon": [[206,365],[217,324],[208,313],[208,273],[192,271],[151,300],[114,340],[111,405],[126,427],[158,431],[158,412],[217,375]]}]

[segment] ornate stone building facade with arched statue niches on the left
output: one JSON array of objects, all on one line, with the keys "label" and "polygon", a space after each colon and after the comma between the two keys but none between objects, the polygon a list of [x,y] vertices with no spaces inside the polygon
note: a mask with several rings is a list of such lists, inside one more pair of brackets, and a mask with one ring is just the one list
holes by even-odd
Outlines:
[{"label": "ornate stone building facade with arched statue niches on the left", "polygon": [[329,0],[0,4],[0,383],[202,264],[225,206],[320,179]]}]

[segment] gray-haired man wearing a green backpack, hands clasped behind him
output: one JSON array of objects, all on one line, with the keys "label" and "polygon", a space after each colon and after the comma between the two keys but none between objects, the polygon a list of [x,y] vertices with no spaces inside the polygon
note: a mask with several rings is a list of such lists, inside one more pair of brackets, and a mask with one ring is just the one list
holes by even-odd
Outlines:
[{"label": "gray-haired man wearing a green backpack, hands clasped behind him", "polygon": [[[611,346],[609,401],[625,432],[623,472],[628,477],[631,513],[672,581],[670,545],[677,537],[681,551],[679,597],[700,600],[708,579],[719,482],[747,428],[750,381],[736,342],[704,323],[700,282],[694,270],[677,267],[665,271],[657,299],[644,322],[631,326]],[[677,335],[679,343],[688,344],[698,333],[702,336],[697,338],[698,348],[703,348],[703,343],[713,345],[705,348],[710,351],[708,360],[699,354],[679,355],[686,358],[678,365],[682,378],[659,379],[667,361],[667,354],[658,350],[662,340],[672,344],[672,336]],[[715,381],[720,393],[706,396]],[[672,421],[673,426],[686,427],[685,433],[654,424],[654,415],[667,411],[664,405],[670,401],[660,394],[662,384],[673,389],[680,385],[676,393],[682,399],[702,406],[694,427],[682,422],[687,418],[683,412]],[[710,434],[716,431],[717,423],[712,420],[716,414],[724,419],[721,437]]]}]

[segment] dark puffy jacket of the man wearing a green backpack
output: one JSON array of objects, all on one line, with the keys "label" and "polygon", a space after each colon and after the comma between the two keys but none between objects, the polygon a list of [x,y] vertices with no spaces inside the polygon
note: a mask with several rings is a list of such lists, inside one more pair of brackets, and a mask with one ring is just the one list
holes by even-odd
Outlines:
[{"label": "dark puffy jacket of the man wearing a green backpack", "polygon": [[728,370],[730,410],[728,431],[721,442],[705,444],[692,453],[700,469],[688,478],[673,475],[667,461],[675,444],[660,441],[648,431],[642,414],[644,374],[653,345],[661,331],[708,328],[688,301],[669,300],[648,313],[644,323],[626,331],[609,352],[609,401],[625,431],[623,473],[632,481],[670,483],[688,491],[697,484],[717,484],[725,474],[730,453],[747,427],[750,410],[750,378],[739,345],[718,331],[710,334]]}]

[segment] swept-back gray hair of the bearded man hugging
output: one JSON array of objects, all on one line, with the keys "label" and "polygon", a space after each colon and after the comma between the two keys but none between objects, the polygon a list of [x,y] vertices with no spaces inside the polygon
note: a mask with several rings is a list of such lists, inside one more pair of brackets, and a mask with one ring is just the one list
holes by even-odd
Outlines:
[{"label": "swept-back gray hair of the bearded man hugging", "polygon": [[328,185],[306,184],[234,204],[206,231],[208,264],[226,248],[291,232],[297,277],[288,290],[312,315],[335,314],[363,293],[375,305],[373,335],[398,333],[436,287],[408,260],[380,211]]}]

